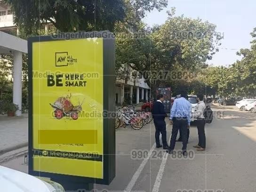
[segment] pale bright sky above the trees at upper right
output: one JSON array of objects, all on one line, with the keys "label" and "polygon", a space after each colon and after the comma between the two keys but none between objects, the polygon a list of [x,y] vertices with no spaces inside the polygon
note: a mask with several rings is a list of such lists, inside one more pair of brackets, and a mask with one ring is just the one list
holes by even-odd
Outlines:
[{"label": "pale bright sky above the trees at upper right", "polygon": [[250,32],[256,27],[256,0],[168,0],[167,8],[148,13],[144,22],[149,26],[163,24],[166,11],[172,7],[176,16],[200,17],[216,24],[216,32],[224,34],[219,52],[208,64],[228,66],[241,58],[236,55],[240,48],[250,48]]}]

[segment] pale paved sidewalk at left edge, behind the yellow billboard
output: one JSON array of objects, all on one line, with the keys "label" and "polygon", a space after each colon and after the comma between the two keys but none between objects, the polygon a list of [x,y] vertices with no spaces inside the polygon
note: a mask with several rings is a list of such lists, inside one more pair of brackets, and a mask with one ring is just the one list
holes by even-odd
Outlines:
[{"label": "pale paved sidewalk at left edge, behind the yellow billboard", "polygon": [[0,155],[28,145],[28,114],[0,115]]}]

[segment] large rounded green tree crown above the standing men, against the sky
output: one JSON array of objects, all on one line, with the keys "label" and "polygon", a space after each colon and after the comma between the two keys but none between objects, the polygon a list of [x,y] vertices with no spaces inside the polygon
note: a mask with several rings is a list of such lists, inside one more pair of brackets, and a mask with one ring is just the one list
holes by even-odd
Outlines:
[{"label": "large rounded green tree crown above the standing men, against the sky", "polygon": [[176,65],[191,70],[205,67],[223,38],[216,32],[216,25],[174,14],[172,8],[165,24],[152,34],[161,53],[161,67],[173,69]]}]

